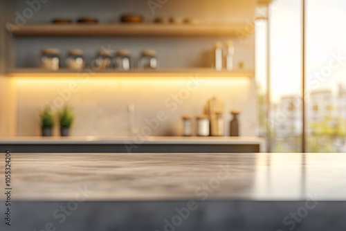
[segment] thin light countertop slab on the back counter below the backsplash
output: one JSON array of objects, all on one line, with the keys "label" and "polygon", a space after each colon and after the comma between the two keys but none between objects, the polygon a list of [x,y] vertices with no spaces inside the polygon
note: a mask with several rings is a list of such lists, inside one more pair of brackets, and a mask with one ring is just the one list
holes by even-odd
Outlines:
[{"label": "thin light countertop slab on the back counter below the backsplash", "polygon": [[262,145],[263,138],[258,137],[199,137],[199,136],[17,136],[17,137],[0,137],[0,145],[51,145],[51,144],[143,144],[143,145]]}]

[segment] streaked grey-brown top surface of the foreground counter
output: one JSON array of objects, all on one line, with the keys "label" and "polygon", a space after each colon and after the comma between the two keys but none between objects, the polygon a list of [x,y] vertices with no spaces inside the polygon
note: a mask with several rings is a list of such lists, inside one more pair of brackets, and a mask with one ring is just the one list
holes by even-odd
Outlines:
[{"label": "streaked grey-brown top surface of the foreground counter", "polygon": [[83,192],[84,201],[346,199],[345,154],[12,154],[11,160],[15,201],[69,201]]}]

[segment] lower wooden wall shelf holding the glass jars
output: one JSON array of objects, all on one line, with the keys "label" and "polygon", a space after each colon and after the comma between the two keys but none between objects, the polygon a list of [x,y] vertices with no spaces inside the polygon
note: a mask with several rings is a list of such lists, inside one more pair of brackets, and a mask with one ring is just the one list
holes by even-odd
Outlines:
[{"label": "lower wooden wall shelf holding the glass jars", "polygon": [[71,72],[68,69],[46,71],[41,68],[15,68],[6,74],[8,77],[253,77],[255,71],[215,71],[212,68],[174,68],[158,69],[156,71],[133,70],[128,72],[110,71],[80,71]]}]

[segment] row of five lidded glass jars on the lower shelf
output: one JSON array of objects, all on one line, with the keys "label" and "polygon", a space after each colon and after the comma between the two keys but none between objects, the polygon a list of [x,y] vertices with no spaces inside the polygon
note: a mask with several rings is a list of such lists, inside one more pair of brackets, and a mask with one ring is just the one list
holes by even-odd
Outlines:
[{"label": "row of five lidded glass jars on the lower shelf", "polygon": [[[120,71],[129,71],[135,67],[156,69],[158,68],[158,59],[155,50],[143,50],[136,64],[135,66],[129,50],[118,50],[114,54],[111,50],[99,50],[96,58],[91,62],[90,67],[99,70],[115,68]],[[60,50],[55,48],[43,49],[41,66],[42,68],[57,71],[60,67]],[[83,50],[69,50],[66,66],[70,70],[75,71],[84,69],[85,60]]]}]

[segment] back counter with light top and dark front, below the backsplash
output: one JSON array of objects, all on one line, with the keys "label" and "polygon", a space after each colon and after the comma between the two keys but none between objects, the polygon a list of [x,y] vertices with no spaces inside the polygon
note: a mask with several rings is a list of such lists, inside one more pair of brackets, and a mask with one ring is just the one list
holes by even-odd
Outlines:
[{"label": "back counter with light top and dark front, below the backsplash", "polygon": [[25,136],[0,138],[0,151],[19,153],[255,153],[264,150],[257,137],[184,136]]}]

